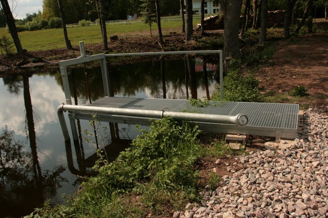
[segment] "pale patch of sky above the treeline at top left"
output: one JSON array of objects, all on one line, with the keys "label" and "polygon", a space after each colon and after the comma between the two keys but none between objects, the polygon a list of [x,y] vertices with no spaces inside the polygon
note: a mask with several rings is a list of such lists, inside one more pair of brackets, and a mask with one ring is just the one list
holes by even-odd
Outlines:
[{"label": "pale patch of sky above the treeline at top left", "polygon": [[[27,13],[37,13],[38,10],[42,11],[42,0],[14,0],[17,6],[13,12],[15,19],[23,19]],[[13,0],[8,0],[10,7],[12,7]]]}]

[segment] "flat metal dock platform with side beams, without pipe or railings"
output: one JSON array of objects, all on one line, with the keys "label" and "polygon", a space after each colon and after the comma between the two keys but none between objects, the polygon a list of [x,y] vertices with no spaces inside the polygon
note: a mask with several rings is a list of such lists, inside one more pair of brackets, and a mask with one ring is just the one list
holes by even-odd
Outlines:
[{"label": "flat metal dock platform with side beams, without pipe or railings", "polygon": [[[189,100],[105,97],[84,106],[158,112],[164,109],[170,112],[195,113],[209,116],[236,116],[244,114],[248,117],[248,124],[245,126],[214,122],[193,121],[193,123],[201,129],[210,132],[268,136],[276,137],[277,140],[280,138],[293,139],[297,137],[298,104],[209,101],[209,105],[200,107],[192,105]],[[113,123],[150,125],[151,119],[154,119],[151,117],[74,112],[77,119],[92,119],[92,114],[96,114],[100,120]]]}]

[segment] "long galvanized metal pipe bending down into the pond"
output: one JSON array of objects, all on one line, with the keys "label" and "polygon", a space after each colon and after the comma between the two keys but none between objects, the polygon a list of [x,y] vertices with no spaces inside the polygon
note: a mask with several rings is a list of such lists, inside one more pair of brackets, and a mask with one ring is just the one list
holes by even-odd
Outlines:
[{"label": "long galvanized metal pipe bending down into the pond", "polygon": [[65,141],[70,140],[67,125],[65,122],[64,111],[71,113],[94,113],[106,115],[122,115],[131,117],[147,117],[161,119],[164,117],[172,117],[177,120],[188,120],[194,122],[209,122],[222,124],[235,124],[237,126],[245,126],[248,123],[248,118],[244,114],[236,116],[226,115],[210,115],[210,114],[196,114],[196,113],[182,113],[170,111],[152,111],[152,110],[137,110],[129,108],[114,108],[114,107],[95,107],[95,106],[80,106],[80,105],[66,105],[61,104],[57,108],[57,115],[61,130],[63,131]]}]

